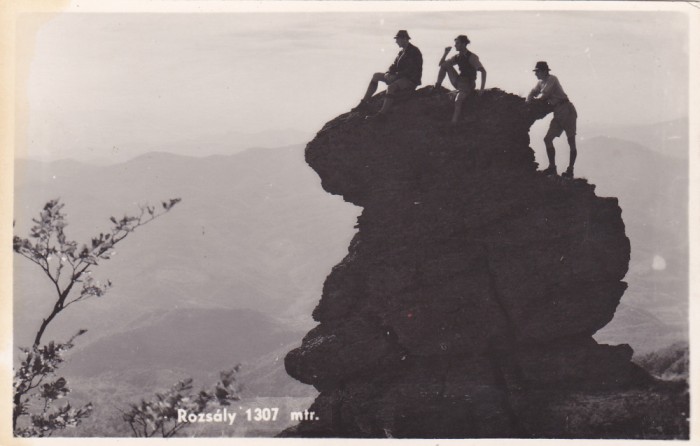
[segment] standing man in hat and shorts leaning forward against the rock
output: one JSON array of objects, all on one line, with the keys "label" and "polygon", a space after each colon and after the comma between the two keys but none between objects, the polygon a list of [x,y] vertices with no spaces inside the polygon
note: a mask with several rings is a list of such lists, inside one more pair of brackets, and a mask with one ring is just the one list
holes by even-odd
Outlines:
[{"label": "standing man in hat and shorts leaning forward against the rock", "polygon": [[564,89],[561,88],[559,79],[549,74],[549,65],[547,65],[547,62],[537,62],[533,71],[539,81],[527,96],[528,102],[539,96],[538,99],[547,101],[548,104],[554,107],[554,117],[544,137],[544,145],[547,147],[547,158],[549,158],[549,167],[544,170],[544,174],[557,174],[557,166],[554,160],[554,138],[566,132],[566,139],[569,142],[570,149],[569,167],[561,176],[564,178],[573,178],[574,162],[576,161],[576,118],[578,117],[576,108],[574,104],[569,101],[569,97],[564,93]]}]

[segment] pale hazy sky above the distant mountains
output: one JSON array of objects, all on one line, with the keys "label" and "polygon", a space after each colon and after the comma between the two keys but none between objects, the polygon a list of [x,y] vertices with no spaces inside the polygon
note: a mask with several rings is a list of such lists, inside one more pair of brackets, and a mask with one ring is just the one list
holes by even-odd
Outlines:
[{"label": "pale hazy sky above the distant mountains", "polygon": [[547,60],[583,136],[688,114],[688,22],[677,12],[64,13],[35,34],[36,21],[18,23],[18,39],[35,41],[19,55],[29,125],[17,155],[39,159],[312,135],[390,65],[398,29],[423,52],[423,85],[462,33],[487,88],[526,95]]}]

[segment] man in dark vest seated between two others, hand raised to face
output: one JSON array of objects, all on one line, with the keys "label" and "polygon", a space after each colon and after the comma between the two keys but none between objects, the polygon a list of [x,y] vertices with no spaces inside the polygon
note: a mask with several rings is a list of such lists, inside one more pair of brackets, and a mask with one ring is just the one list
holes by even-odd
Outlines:
[{"label": "man in dark vest seated between two others, hand raised to face", "polygon": [[[457,36],[455,39],[457,54],[445,60],[447,54],[452,49],[448,46],[445,48],[440,62],[438,62],[440,71],[438,72],[437,82],[435,82],[435,88],[442,85],[442,81],[447,74],[450,78],[450,83],[452,83],[452,86],[457,90],[457,95],[455,96],[455,110],[452,114],[452,124],[457,124],[457,120],[462,113],[462,104],[464,104],[464,100],[471,96],[474,90],[476,90],[477,72],[481,73],[481,89],[479,92],[483,91],[486,85],[486,69],[479,61],[479,56],[467,49],[469,43],[469,38],[467,36]],[[459,67],[459,73],[455,70],[455,65]]]}]

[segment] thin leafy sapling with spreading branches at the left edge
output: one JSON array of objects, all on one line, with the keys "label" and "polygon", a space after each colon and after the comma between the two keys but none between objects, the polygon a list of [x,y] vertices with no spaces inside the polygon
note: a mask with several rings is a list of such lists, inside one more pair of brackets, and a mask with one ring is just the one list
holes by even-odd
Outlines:
[{"label": "thin leafy sapling with spreading branches at the left edge", "polygon": [[[82,245],[78,250],[78,242],[68,240],[64,232],[67,222],[66,214],[62,212],[63,203],[59,199],[50,200],[44,205],[39,217],[32,219],[34,226],[30,229],[29,237],[13,238],[13,250],[36,264],[52,282],[55,291],[51,312],[42,319],[32,348],[23,349],[25,359],[15,370],[12,416],[15,435],[51,436],[54,431],[76,425],[82,418],[89,416],[92,411],[91,404],[73,409],[68,403],[63,407],[52,409],[54,399],[60,397],[59,395],[67,394],[70,389],[66,387],[66,381],[63,378],[48,381],[63,362],[62,353],[70,349],[75,337],[85,333],[85,330],[78,331],[66,343],[56,344],[52,341],[48,345],[41,346],[44,332],[51,322],[69,306],[90,297],[103,296],[111,287],[111,281],[107,280],[105,285],[101,285],[92,277],[83,279],[83,276],[91,271],[91,267],[97,267],[101,261],[109,260],[111,258],[109,251],[113,250],[116,244],[137,228],[166,214],[179,202],[179,198],[163,202],[163,207],[159,211],[156,211],[153,206],[140,206],[138,217],[125,215],[119,221],[112,217],[110,220],[113,226],[108,232],[92,237],[89,244]],[[146,213],[148,217],[145,217]],[[70,266],[70,274],[64,274],[66,264]],[[82,287],[77,295],[74,295],[75,285],[79,283]],[[34,394],[37,392],[44,402],[43,410],[39,415],[30,414],[28,409],[30,399],[36,397]],[[29,422],[25,423],[28,427],[18,426],[22,416],[29,416]],[[144,428],[147,429],[147,424],[144,424]],[[136,433],[135,430],[134,432]]]}]

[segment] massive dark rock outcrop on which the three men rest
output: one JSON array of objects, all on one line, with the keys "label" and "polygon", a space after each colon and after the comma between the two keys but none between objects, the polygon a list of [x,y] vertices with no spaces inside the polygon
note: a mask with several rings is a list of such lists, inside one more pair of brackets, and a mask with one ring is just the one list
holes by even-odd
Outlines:
[{"label": "massive dark rock outcrop on which the three men rest", "polygon": [[592,338],[626,288],[617,200],[537,171],[529,129],[546,105],[491,89],[457,126],[452,107],[423,88],[308,144],[323,188],[363,212],[319,324],[285,358],[320,394],[282,435],[687,436],[685,390]]}]

